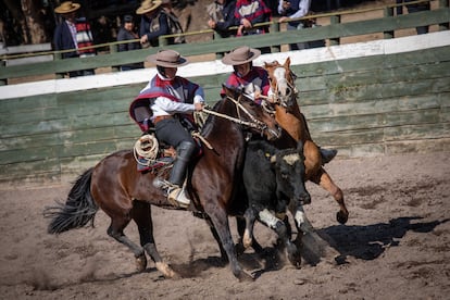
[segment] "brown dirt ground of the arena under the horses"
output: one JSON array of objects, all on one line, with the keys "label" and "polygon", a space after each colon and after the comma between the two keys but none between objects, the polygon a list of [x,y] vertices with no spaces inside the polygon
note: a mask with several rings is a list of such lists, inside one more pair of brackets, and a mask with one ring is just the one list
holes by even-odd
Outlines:
[{"label": "brown dirt ground of the arena under the horses", "polygon": [[[343,263],[336,252],[297,270],[277,254],[275,234],[257,224],[266,254],[239,257],[252,283],[221,264],[207,224],[189,212],[153,210],[160,253],[183,276],[166,279],[151,261],[136,273],[130,251],[107,235],[101,211],[95,228],[47,234],[42,210],[65,201],[70,186],[1,190],[0,298],[448,299],[450,153],[337,158],[326,168],[345,192],[349,222],[336,222],[337,204],[312,184],[305,212]],[[134,224],[126,234],[138,241]]]}]

